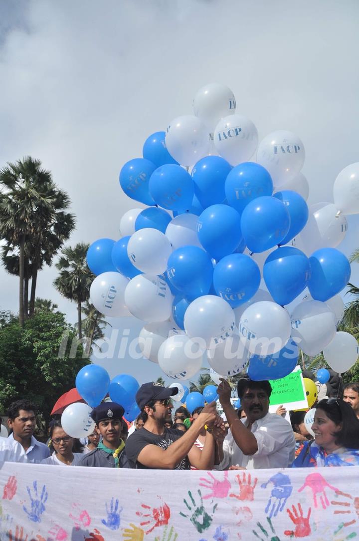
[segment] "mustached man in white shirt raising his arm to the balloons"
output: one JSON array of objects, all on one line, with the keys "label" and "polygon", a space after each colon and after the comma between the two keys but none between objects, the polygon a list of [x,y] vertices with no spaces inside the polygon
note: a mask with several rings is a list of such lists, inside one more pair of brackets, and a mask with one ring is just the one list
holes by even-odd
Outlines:
[{"label": "mustached man in white shirt raising his arm to the balloons", "polygon": [[294,460],[294,434],[288,421],[268,413],[272,391],[269,381],[243,378],[238,382],[238,398],[246,415],[242,420],[231,405],[228,381],[221,381],[217,393],[232,437],[220,444],[221,464],[216,469],[288,467]]}]

